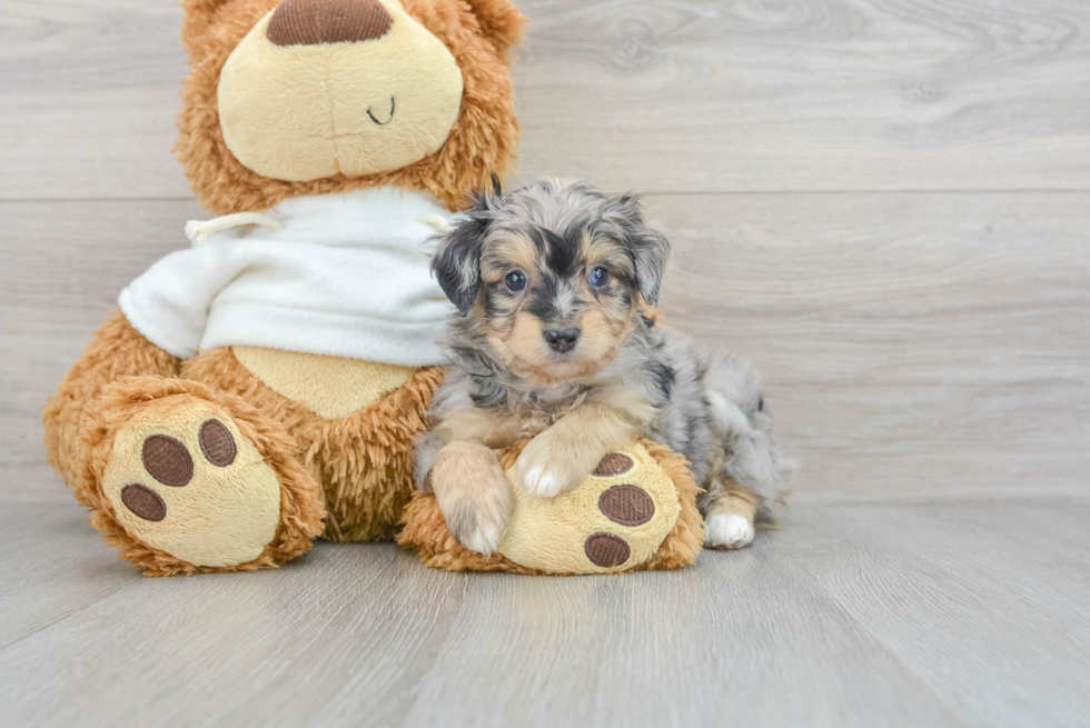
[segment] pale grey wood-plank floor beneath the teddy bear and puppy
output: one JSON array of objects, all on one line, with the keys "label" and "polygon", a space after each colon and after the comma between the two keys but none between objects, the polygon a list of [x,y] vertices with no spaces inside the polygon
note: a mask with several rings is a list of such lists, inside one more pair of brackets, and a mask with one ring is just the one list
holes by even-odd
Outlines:
[{"label": "pale grey wood-plank floor beneath the teddy bear and puppy", "polygon": [[0,724],[1084,726],[1090,503],[822,506],[678,574],[450,575],[388,545],[147,579],[0,513]]}]

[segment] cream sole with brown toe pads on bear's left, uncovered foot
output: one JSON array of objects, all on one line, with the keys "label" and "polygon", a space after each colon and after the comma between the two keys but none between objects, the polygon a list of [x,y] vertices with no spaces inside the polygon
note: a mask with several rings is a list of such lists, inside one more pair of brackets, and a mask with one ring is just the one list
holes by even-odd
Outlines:
[{"label": "cream sole with brown toe pads on bear's left, uncovered foot", "polygon": [[201,567],[256,559],[276,536],[276,471],[219,408],[159,400],[117,433],[102,490],[118,522]]}]

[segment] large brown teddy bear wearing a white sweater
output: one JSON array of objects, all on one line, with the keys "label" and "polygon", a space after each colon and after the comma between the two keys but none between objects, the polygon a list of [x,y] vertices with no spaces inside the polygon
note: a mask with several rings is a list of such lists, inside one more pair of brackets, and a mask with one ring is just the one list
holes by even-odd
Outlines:
[{"label": "large brown teddy bear wearing a white sweater", "polygon": [[[620,485],[651,493],[650,525],[628,513],[646,498],[624,488],[596,505],[527,503],[511,528],[514,560],[464,554],[434,498],[414,493],[413,441],[443,378],[435,340],[452,312],[427,241],[512,168],[517,8],[182,4],[191,68],[176,151],[219,217],[186,226],[191,246],[121,291],[44,411],[48,460],[103,539],[148,576],[271,568],[318,537],[399,530],[444,568],[692,562],[700,535],[680,551],[670,536],[698,531],[683,518],[695,486],[674,487],[683,468],[654,443],[618,453],[632,477],[589,476],[579,489],[584,500]],[[525,546],[579,509],[613,518],[628,540],[587,540],[601,523],[584,518],[558,560]]]}]

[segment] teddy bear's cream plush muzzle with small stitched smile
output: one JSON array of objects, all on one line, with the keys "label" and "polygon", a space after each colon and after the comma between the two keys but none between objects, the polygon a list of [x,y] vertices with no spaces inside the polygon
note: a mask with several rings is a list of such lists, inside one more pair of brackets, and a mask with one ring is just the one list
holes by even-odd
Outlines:
[{"label": "teddy bear's cream plush muzzle with small stitched smile", "polygon": [[463,78],[446,46],[399,4],[383,37],[277,46],[266,14],[231,52],[218,87],[228,149],[272,179],[310,181],[406,167],[446,141]]}]

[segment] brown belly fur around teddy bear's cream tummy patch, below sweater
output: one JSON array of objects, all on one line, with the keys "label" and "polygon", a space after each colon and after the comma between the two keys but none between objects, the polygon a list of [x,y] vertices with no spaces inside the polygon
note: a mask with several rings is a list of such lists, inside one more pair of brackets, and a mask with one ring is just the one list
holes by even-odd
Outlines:
[{"label": "brown belly fur around teddy bear's cream tummy patch, below sweater", "polygon": [[427,426],[425,415],[443,370],[422,369],[393,395],[338,419],[318,417],[266,387],[229,348],[201,352],[181,373],[230,392],[280,423],[295,439],[299,458],[326,495],[323,537],[369,541],[393,537],[413,485],[413,438]]}]

